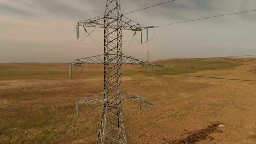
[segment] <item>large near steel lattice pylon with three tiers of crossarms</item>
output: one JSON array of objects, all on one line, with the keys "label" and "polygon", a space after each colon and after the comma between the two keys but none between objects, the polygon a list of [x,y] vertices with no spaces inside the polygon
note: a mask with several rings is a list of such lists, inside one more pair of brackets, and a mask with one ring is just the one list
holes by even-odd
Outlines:
[{"label": "large near steel lattice pylon with three tiers of crossarms", "polygon": [[[89,95],[79,99],[78,104],[84,103],[90,105],[92,102],[103,103],[100,128],[98,130],[97,143],[127,143],[124,118],[122,113],[122,101],[141,100],[149,103],[146,99],[138,97],[129,92],[123,92],[122,89],[122,65],[123,64],[143,64],[148,65],[148,61],[143,61],[135,57],[123,55],[122,53],[122,31],[142,31],[152,28],[144,27],[121,14],[121,5],[119,0],[107,0],[104,16],[98,16],[92,19],[77,23],[77,37],[79,38],[79,27],[99,27],[104,28],[104,53],[87,58],[76,59],[73,65],[82,64],[104,64],[104,89],[102,92]],[[87,32],[87,31],[86,31]],[[103,97],[100,95],[103,94]]]}]

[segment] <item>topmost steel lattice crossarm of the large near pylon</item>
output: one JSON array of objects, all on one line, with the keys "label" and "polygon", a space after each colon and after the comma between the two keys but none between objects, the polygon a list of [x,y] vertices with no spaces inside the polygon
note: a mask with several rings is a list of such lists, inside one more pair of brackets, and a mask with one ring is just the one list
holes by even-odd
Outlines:
[{"label": "topmost steel lattice crossarm of the large near pylon", "polygon": [[[117,23],[115,21],[117,21],[117,19],[120,19],[120,16],[122,16],[122,15],[109,16],[108,17],[109,24],[107,26],[104,24],[104,20],[106,17],[98,16],[98,17],[94,17],[92,19],[78,22],[77,27],[98,27],[98,28],[108,27],[110,29],[116,29]],[[122,16],[121,21],[123,23],[122,29],[124,29],[124,30],[142,31],[143,29],[151,28],[151,27],[144,27],[141,24],[139,24],[135,21],[132,21],[125,16]]]}]

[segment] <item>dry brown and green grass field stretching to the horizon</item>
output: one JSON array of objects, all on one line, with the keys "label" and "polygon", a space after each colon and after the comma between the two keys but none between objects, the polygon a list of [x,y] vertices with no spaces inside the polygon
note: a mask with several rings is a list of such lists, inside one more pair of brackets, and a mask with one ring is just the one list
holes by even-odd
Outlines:
[{"label": "dry brown and green grass field stretching to the horizon", "polygon": [[[153,77],[124,66],[124,91],[155,104],[123,103],[129,143],[256,143],[256,58],[153,63]],[[103,67],[75,67],[72,79],[68,67],[0,64],[0,143],[95,143],[102,105],[80,105],[77,118],[75,101],[103,88]]]}]

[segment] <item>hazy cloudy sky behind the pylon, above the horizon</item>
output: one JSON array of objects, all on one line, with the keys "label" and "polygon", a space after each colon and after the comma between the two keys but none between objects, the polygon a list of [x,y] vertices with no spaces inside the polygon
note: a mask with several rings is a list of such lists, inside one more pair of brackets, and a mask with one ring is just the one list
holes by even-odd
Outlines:
[{"label": "hazy cloudy sky behind the pylon, above the horizon", "polygon": [[[121,8],[127,13],[166,1],[121,0]],[[103,15],[104,5],[104,0],[0,0],[0,62],[72,62],[101,54],[103,29],[96,28],[91,35],[99,49],[90,37],[78,41],[75,25]],[[176,0],[125,16],[143,26],[156,26],[247,10],[256,10],[255,0]],[[123,52],[146,58],[149,49],[151,60],[235,55],[255,49],[256,31],[222,43],[256,30],[255,24],[256,12],[251,12],[163,26],[149,43],[133,40],[128,51],[133,32],[125,31]]]}]

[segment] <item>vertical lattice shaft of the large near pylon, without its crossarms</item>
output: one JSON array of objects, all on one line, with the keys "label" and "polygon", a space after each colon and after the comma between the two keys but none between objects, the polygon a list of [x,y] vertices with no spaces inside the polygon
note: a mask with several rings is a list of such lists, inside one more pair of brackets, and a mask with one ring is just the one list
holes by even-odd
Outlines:
[{"label": "vertical lattice shaft of the large near pylon, without its crossarms", "polygon": [[[109,28],[116,23],[116,28]],[[107,1],[104,14],[104,107],[97,143],[127,143],[121,109],[122,15],[120,2]]]}]

